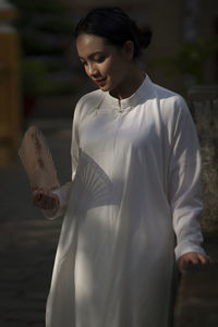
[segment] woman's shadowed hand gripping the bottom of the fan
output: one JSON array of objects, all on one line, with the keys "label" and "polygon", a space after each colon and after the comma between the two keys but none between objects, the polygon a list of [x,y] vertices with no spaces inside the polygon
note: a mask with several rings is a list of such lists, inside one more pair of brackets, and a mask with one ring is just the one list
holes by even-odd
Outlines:
[{"label": "woman's shadowed hand gripping the bottom of the fan", "polygon": [[55,210],[59,207],[59,196],[50,190],[39,189],[34,185],[32,187],[33,204],[44,210]]}]

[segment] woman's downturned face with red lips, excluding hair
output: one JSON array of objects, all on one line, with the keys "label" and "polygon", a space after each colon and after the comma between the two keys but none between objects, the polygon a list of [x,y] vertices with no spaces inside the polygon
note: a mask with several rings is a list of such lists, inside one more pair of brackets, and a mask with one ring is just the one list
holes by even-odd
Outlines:
[{"label": "woman's downturned face with red lips, excluding hair", "polygon": [[128,47],[117,48],[107,45],[99,36],[81,34],[76,39],[76,48],[86,74],[99,88],[119,94],[132,60]]}]

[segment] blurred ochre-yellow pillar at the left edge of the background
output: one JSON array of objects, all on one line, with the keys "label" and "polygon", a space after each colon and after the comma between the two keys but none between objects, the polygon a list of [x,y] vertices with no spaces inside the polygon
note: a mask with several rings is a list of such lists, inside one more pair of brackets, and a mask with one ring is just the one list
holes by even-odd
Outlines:
[{"label": "blurred ochre-yellow pillar at the left edge of the background", "polygon": [[11,21],[16,10],[0,2],[0,169],[16,154],[21,132],[19,39]]}]

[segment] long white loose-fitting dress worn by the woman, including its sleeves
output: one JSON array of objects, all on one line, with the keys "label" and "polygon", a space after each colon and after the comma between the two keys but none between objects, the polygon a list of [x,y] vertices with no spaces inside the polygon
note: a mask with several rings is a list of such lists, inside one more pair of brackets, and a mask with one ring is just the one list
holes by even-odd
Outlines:
[{"label": "long white loose-fitting dress worn by the woman, including its sleeves", "polygon": [[199,148],[183,98],[148,76],[121,101],[84,96],[72,171],[57,191],[65,214],[46,326],[169,326],[174,258],[204,253]]}]

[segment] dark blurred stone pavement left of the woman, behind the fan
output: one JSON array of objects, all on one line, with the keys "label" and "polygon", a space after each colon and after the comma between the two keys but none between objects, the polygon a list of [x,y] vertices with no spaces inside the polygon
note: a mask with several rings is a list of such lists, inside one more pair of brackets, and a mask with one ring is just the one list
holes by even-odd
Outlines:
[{"label": "dark blurred stone pavement left of the woman, behind the fan", "polygon": [[[59,180],[71,177],[71,120],[38,120]],[[43,327],[61,219],[47,220],[31,203],[19,158],[0,170],[0,326]]]}]

